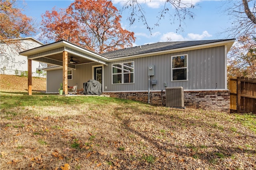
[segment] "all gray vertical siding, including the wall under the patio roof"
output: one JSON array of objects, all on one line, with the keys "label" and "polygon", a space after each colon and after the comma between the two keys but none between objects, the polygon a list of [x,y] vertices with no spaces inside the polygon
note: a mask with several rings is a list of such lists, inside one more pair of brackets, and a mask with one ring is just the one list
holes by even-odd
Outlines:
[{"label": "all gray vertical siding, including the wall under the patio roof", "polygon": [[[188,56],[188,80],[171,81],[171,58],[175,55]],[[134,61],[134,83],[112,84],[112,64]],[[194,49],[189,51],[167,53],[132,59],[108,62],[103,66],[104,82],[102,90],[105,92],[114,91],[147,91],[148,90],[148,65],[154,65],[155,75],[151,80],[156,80],[154,90],[165,90],[167,87],[183,87],[187,90],[196,89],[225,89],[225,46]],[[84,82],[92,79],[93,66],[100,63],[93,62],[76,65],[72,69],[72,80],[68,80],[68,86],[78,83],[78,89],[83,88]],[[58,92],[62,82],[62,69],[47,71],[47,93]],[[51,82],[51,83],[49,83]],[[105,87],[107,87],[105,89]],[[152,87],[150,87],[152,89]]]}]

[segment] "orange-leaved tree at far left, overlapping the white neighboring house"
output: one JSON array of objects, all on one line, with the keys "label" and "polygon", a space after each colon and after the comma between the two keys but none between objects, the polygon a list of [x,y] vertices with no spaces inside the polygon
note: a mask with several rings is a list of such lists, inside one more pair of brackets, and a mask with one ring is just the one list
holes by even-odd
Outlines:
[{"label": "orange-leaved tree at far left, overlapping the white neighboring house", "polygon": [[[10,53],[22,51],[20,39],[34,33],[32,18],[22,14],[22,10],[16,7],[16,0],[0,1],[0,53],[1,63],[14,63],[15,59]],[[6,48],[7,47],[7,48]]]}]

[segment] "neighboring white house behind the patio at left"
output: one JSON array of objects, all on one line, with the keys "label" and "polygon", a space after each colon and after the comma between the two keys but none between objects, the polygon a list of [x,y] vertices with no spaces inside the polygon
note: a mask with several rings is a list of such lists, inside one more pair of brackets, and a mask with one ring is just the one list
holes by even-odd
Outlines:
[{"label": "neighboring white house behind the patio at left", "polygon": [[[25,56],[19,55],[19,52],[40,47],[44,43],[32,38],[19,38],[15,39],[18,41],[15,45],[6,45],[6,43],[0,43],[0,73],[7,75],[22,75],[28,71],[28,59]],[[42,68],[40,63],[40,68]],[[32,76],[37,77],[36,69],[39,68],[38,61],[32,61]],[[42,77],[42,73],[40,77]],[[44,76],[45,77],[45,76]]]}]

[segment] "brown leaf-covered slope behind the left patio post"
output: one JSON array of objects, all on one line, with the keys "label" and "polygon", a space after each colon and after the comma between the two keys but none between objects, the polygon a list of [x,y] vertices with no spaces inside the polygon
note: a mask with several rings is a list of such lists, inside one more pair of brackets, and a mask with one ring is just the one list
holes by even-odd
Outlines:
[{"label": "brown leaf-covered slope behind the left patio post", "polygon": [[[0,75],[1,91],[28,91],[28,77]],[[46,78],[32,77],[32,91],[46,91]]]}]

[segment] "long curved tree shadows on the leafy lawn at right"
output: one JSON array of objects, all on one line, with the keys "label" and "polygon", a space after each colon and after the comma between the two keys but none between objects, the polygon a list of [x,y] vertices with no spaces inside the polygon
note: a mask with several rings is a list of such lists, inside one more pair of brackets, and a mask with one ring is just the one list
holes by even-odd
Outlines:
[{"label": "long curved tree shadows on the leafy lawn at right", "polygon": [[[151,137],[152,136],[151,132],[142,132],[140,130],[137,130],[136,128],[133,128],[130,125],[132,125],[134,121],[131,121],[129,119],[124,119],[123,117],[119,117],[118,115],[116,115],[118,119],[122,120],[122,124],[124,125],[124,128],[128,132],[130,132],[132,134],[136,134],[137,136],[140,136],[145,141],[152,144],[152,146],[155,147],[157,150],[159,150],[159,152],[164,151],[164,152],[169,152],[169,153],[175,153],[181,157],[191,156],[192,158],[195,158],[195,159],[205,160],[209,164],[216,164],[216,162],[219,162],[219,161],[224,162],[225,161],[224,158],[228,158],[231,160],[234,158],[235,155],[244,155],[244,154],[254,155],[254,156],[256,155],[255,149],[241,148],[238,144],[230,141],[230,138],[226,138],[225,134],[219,135],[218,131],[221,131],[221,130],[218,130],[218,127],[214,127],[210,123],[202,122],[200,119],[190,120],[190,118],[182,118],[182,117],[178,117],[177,115],[161,115],[158,113],[153,113],[153,112],[151,113],[150,111],[149,112],[141,111],[141,113],[142,113],[142,115],[150,117],[150,121],[152,121],[152,122],[160,122],[160,124],[165,127],[163,129],[171,129],[173,132],[182,130],[182,128],[180,128],[180,126],[185,126],[188,129],[188,133],[190,133],[189,129],[196,128],[196,127],[209,127],[210,129],[217,130],[217,132],[212,132],[212,133],[209,132],[209,135],[205,136],[206,138],[212,138],[212,140],[213,140],[212,144],[210,144],[208,146],[204,146],[204,143],[200,144],[200,142],[196,142],[198,144],[198,146],[197,146],[194,144],[188,144],[186,142],[182,143],[182,141],[180,141],[179,146],[175,146],[171,142],[165,142],[165,141],[159,140],[158,138]],[[162,119],[173,120],[173,121],[172,122],[166,122],[166,121],[163,122],[163,121],[161,121]],[[184,125],[184,124],[186,124],[186,125]],[[214,130],[212,130],[212,131],[214,131]],[[229,133],[230,130],[224,129],[224,131]],[[230,133],[232,133],[232,132],[230,131]],[[178,134],[178,133],[176,133],[176,134]],[[198,135],[200,136],[200,134],[198,134]],[[174,136],[174,138],[175,138],[175,136]],[[191,135],[191,138],[193,138],[193,135]],[[215,144],[214,143],[215,138],[220,138],[220,140],[224,141],[224,143],[222,145]],[[245,133],[240,133],[240,138],[241,139],[242,138],[244,138],[244,139],[250,138],[249,139],[250,141],[255,141],[256,136],[253,136],[250,134],[245,134]],[[191,142],[194,142],[194,139],[191,139]],[[212,148],[212,149],[211,149],[211,151],[206,151],[202,147],[203,148]],[[251,161],[253,159],[254,158],[252,158]],[[248,164],[248,167],[252,168],[254,166],[255,165]]]}]

